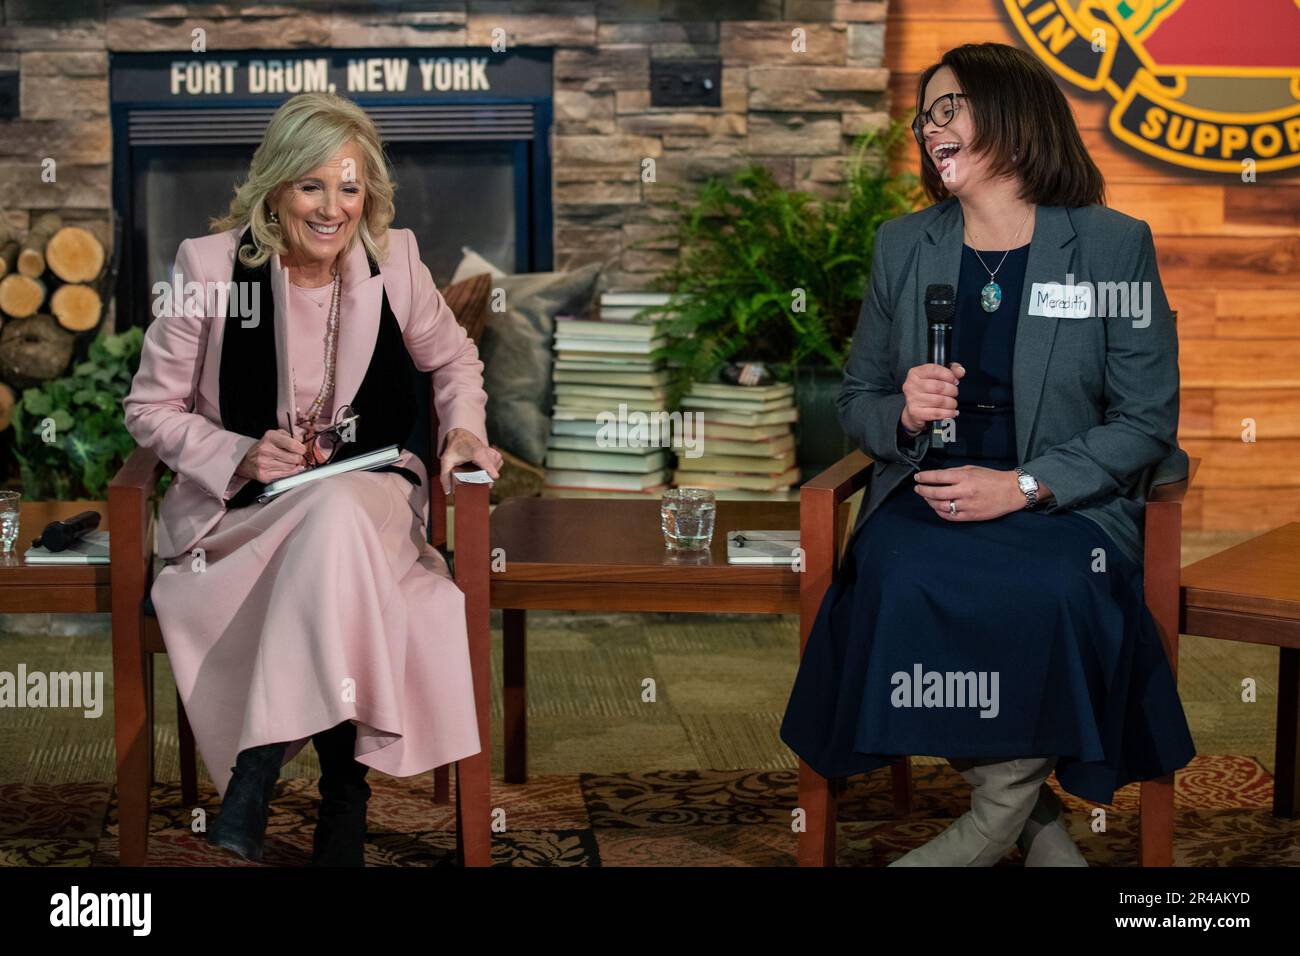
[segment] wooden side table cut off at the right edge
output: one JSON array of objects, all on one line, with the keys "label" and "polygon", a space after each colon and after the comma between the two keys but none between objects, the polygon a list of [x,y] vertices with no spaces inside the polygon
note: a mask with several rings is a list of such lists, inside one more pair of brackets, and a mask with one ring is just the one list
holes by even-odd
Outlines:
[{"label": "wooden side table cut off at the right edge", "polygon": [[1179,630],[1278,648],[1273,813],[1296,817],[1300,790],[1300,522],[1182,571]]}]

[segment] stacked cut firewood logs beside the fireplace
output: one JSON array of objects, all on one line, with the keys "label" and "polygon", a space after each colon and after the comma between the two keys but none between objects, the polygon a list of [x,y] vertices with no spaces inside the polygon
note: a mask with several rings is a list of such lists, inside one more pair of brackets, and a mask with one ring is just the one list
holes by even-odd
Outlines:
[{"label": "stacked cut firewood logs beside the fireplace", "polygon": [[104,245],[58,213],[38,216],[18,238],[0,220],[0,431],[14,389],[64,373],[77,333],[104,313]]}]

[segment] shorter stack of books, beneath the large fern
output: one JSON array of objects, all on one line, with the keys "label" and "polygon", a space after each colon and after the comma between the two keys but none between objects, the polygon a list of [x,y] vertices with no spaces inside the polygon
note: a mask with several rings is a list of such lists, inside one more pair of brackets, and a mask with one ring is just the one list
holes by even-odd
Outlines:
[{"label": "shorter stack of books, beneath the large fern", "polygon": [[[792,498],[800,481],[794,459],[798,410],[794,386],[693,382],[681,399],[682,418],[702,427],[699,454],[677,449],[673,484],[708,488],[719,498]],[[699,441],[699,428],[694,428]],[[677,442],[679,445],[681,442]]]}]

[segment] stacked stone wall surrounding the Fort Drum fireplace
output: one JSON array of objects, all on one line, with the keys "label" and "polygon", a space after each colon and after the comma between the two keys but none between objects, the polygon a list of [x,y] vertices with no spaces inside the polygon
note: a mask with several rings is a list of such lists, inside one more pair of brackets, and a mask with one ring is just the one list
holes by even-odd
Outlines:
[{"label": "stacked stone wall surrounding the Fort Drum fireplace", "polygon": [[[556,267],[601,261],[606,287],[644,287],[672,261],[670,185],[758,161],[785,186],[833,189],[852,137],[885,121],[875,0],[0,3],[0,69],[18,69],[21,90],[20,117],[0,121],[0,204],[18,228],[60,209],[105,242],[108,52],[188,52],[196,27],[209,51],[486,47],[498,27],[510,44],[552,47]],[[651,108],[651,59],[702,56],[722,59],[722,107]],[[55,182],[42,181],[46,157]],[[650,247],[630,248],[640,241]]]}]

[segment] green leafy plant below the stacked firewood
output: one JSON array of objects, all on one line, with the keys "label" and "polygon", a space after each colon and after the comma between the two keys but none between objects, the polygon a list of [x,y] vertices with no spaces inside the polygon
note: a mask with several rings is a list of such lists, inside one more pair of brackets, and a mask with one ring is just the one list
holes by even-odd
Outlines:
[{"label": "green leafy plant below the stacked firewood", "polygon": [[108,483],[135,447],[122,399],[140,363],[144,333],[100,334],[69,373],[22,390],[14,403],[14,457],[27,501],[108,499]]}]

